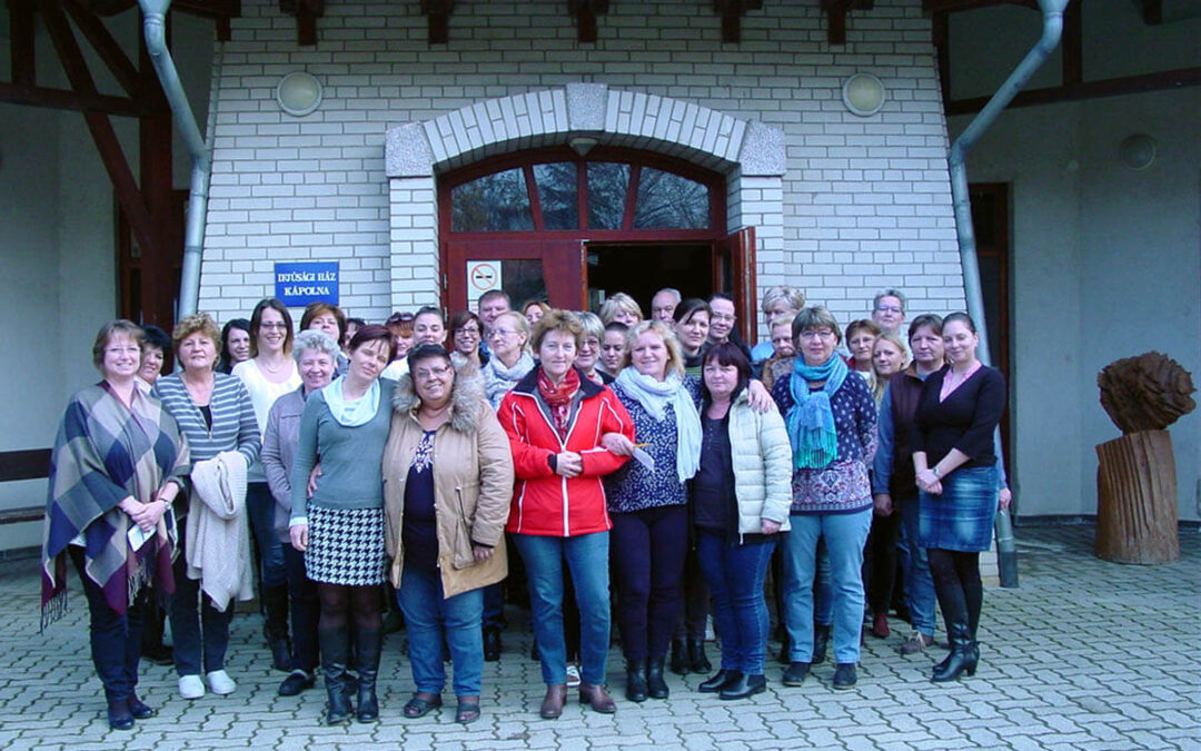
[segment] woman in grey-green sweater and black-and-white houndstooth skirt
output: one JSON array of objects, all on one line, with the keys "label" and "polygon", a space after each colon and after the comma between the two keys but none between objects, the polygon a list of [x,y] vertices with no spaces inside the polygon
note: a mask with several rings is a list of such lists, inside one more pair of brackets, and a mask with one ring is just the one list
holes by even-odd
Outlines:
[{"label": "woman in grey-green sweater and black-and-white houndstooth skirt", "polygon": [[[383,447],[392,421],[395,381],[380,374],[392,362],[392,334],[364,326],[351,339],[346,375],[313,393],[300,417],[292,466],[292,547],[305,554],[317,583],[317,638],[329,704],[325,723],[351,717],[346,664],[354,628],[359,670],[358,719],[380,719],[376,675],[383,627],[380,585],[384,582]],[[309,476],[321,459],[321,477],[309,497]]]}]

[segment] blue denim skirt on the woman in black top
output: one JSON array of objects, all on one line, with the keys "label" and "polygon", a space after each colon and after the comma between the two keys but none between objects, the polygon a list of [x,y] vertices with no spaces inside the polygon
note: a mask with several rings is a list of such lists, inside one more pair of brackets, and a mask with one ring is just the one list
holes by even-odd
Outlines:
[{"label": "blue denim skirt on the woman in black top", "polygon": [[992,547],[997,515],[997,467],[957,469],[943,478],[943,494],[918,494],[922,548],[982,553]]}]

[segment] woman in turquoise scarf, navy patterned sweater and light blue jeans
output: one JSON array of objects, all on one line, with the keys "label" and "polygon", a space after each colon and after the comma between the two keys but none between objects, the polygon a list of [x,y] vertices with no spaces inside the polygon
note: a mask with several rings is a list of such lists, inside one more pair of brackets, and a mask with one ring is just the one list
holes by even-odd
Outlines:
[{"label": "woman in turquoise scarf, navy patterned sweater and light blue jeans", "polygon": [[789,655],[784,685],[799,686],[813,660],[813,573],[818,541],[825,540],[833,580],[835,689],[856,683],[864,621],[864,543],[872,524],[867,467],[876,453],[872,392],[847,368],[835,347],[838,322],[821,305],[793,320],[800,357],[772,397],[793,445],[793,529],[784,549],[784,602]]}]

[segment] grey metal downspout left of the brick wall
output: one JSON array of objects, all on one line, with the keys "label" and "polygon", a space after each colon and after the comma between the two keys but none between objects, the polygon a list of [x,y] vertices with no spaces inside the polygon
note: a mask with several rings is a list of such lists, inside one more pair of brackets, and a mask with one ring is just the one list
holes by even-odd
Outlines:
[{"label": "grey metal downspout left of the brick wall", "polygon": [[209,204],[209,148],[192,114],[192,106],[184,94],[175,61],[167,49],[167,10],[171,0],[138,0],[142,7],[142,28],[147,50],[159,73],[171,112],[175,118],[187,153],[192,156],[192,181],[187,196],[187,225],[184,230],[184,266],[179,279],[179,310],[177,316],[196,312],[201,293],[201,254],[204,244],[204,215]]}]

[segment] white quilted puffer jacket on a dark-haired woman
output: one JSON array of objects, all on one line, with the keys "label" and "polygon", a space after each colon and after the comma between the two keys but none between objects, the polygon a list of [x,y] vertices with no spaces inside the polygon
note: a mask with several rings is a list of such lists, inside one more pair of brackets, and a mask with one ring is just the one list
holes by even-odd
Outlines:
[{"label": "white quilted puffer jacket on a dark-haired woman", "polygon": [[764,413],[752,410],[743,389],[730,405],[729,424],[739,535],[759,534],[763,519],[779,521],[787,532],[791,529],[793,448],[784,418],[775,405]]}]

